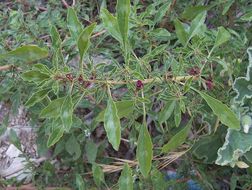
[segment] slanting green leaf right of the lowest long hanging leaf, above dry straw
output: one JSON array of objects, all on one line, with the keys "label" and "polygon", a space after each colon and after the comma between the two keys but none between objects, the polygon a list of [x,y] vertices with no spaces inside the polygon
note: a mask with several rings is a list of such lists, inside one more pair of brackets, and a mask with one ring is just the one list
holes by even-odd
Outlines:
[{"label": "slanting green leaf right of the lowest long hanging leaf, above dry straw", "polygon": [[169,140],[169,142],[162,147],[162,153],[168,153],[183,144],[190,129],[191,121],[189,121],[189,123],[181,131],[174,135],[171,140]]}]

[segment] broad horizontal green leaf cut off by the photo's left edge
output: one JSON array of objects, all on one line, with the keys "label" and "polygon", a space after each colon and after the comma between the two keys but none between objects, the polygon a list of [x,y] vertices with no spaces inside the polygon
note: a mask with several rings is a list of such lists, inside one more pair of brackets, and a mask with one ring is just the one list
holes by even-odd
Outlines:
[{"label": "broad horizontal green leaf cut off by the photo's left edge", "polygon": [[24,45],[5,54],[0,54],[0,59],[17,59],[23,62],[33,62],[48,56],[48,50],[35,45]]}]

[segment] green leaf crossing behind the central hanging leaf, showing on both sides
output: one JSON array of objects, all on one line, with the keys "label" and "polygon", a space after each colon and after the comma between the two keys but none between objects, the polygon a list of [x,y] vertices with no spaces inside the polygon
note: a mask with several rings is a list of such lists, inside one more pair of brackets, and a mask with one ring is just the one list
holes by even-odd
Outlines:
[{"label": "green leaf crossing behind the central hanging leaf, showing on both sides", "polygon": [[[133,113],[134,101],[132,101],[132,100],[118,101],[118,102],[115,102],[115,105],[116,105],[116,109],[117,109],[117,112],[118,112],[118,117],[120,119],[123,118],[123,117],[127,117],[127,116],[129,116],[130,114]],[[100,112],[95,120],[97,122],[104,121],[104,113],[105,113],[105,110]]]}]

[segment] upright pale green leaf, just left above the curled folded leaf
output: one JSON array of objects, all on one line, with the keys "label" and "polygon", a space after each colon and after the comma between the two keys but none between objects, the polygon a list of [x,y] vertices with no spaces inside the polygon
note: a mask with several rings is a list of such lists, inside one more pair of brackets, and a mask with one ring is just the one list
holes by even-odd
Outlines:
[{"label": "upright pale green leaf, just left above the curled folded leaf", "polygon": [[82,32],[82,24],[80,23],[76,12],[73,8],[67,9],[67,27],[71,33],[71,36],[77,40],[80,33]]}]

